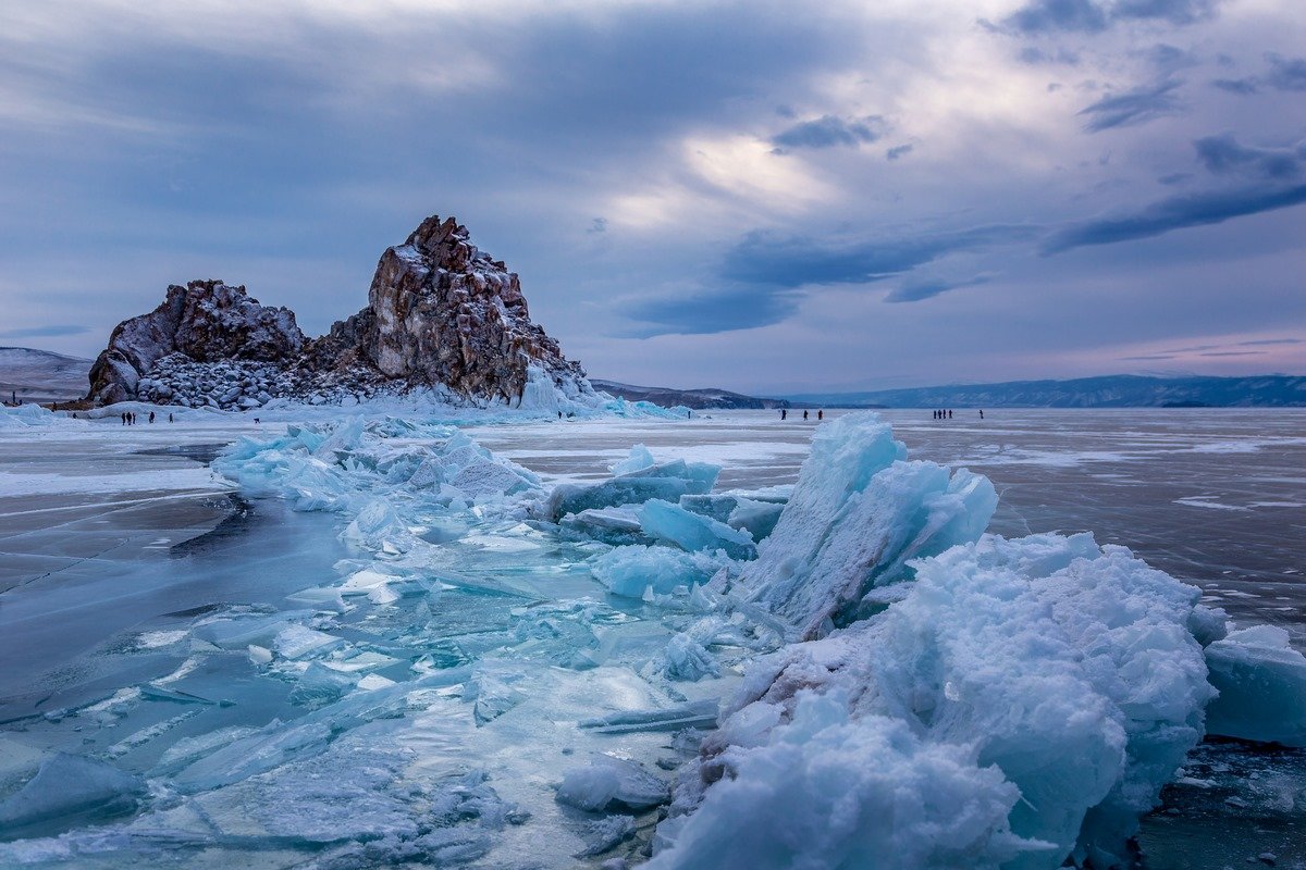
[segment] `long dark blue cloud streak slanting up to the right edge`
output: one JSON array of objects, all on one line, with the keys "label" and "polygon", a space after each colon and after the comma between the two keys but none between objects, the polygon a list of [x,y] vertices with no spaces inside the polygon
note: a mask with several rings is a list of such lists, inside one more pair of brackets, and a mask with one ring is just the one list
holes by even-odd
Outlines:
[{"label": "long dark blue cloud streak slanting up to the right edge", "polygon": [[1205,227],[1263,211],[1306,202],[1306,184],[1282,188],[1245,188],[1161,200],[1134,214],[1072,224],[1054,232],[1042,245],[1045,254],[1072,248],[1149,239],[1174,230]]}]

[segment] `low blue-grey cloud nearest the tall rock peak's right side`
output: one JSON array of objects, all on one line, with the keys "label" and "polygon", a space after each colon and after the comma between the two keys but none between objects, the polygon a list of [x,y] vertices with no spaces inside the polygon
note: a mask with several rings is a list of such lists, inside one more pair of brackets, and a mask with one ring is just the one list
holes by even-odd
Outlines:
[{"label": "low blue-grey cloud nearest the tall rock peak's right side", "polygon": [[627,314],[646,323],[635,330],[637,338],[709,335],[778,323],[798,310],[801,299],[776,287],[733,287],[640,300]]}]

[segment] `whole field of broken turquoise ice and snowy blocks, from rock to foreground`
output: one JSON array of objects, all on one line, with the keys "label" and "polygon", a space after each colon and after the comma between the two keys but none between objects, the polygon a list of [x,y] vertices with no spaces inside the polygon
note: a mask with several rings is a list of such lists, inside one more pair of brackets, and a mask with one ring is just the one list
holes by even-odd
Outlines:
[{"label": "whole field of broken turquoise ice and snowy blocks, from rock to foreground", "polygon": [[445,419],[232,445],[330,556],[0,737],[0,865],[1101,867],[1208,724],[1301,725],[1284,637],[1091,535],[983,535],[991,484],[871,415],[791,490],[648,443],[563,485]]}]

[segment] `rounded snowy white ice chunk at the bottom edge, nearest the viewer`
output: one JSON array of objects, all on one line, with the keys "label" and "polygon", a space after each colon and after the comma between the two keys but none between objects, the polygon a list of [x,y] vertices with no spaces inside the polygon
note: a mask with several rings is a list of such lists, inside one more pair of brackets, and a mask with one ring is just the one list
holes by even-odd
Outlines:
[{"label": "rounded snowy white ice chunk at the bottom edge, nearest the viewer", "polygon": [[807,697],[771,745],[731,750],[734,776],[660,826],[662,849],[645,866],[995,870],[1040,848],[1008,827],[1020,792],[1002,771],[904,721],[852,721],[845,703]]}]

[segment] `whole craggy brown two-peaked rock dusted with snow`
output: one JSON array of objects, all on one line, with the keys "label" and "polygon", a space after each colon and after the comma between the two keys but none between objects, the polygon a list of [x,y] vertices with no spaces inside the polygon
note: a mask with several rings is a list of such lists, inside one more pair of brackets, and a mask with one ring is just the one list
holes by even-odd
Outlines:
[{"label": "whole craggy brown two-peaked rock dusted with snow", "polygon": [[431,217],[381,254],[367,308],[317,339],[244,287],[168,287],[155,310],[114,330],[89,398],[249,408],[443,387],[512,403],[532,377],[571,398],[594,395],[584,369],[530,321],[517,275],[478,250],[457,220]]}]

